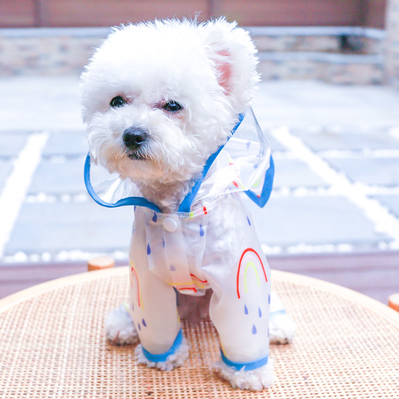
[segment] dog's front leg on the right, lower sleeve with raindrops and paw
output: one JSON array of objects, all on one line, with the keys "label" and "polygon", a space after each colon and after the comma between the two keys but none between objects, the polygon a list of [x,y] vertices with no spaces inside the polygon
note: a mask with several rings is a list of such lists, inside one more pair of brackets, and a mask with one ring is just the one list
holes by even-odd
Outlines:
[{"label": "dog's front leg on the right, lower sleeve with raindrops and paw", "polygon": [[273,382],[268,356],[270,282],[256,276],[251,280],[248,273],[242,292],[236,274],[212,286],[209,313],[221,343],[222,361],[216,371],[233,388],[259,391]]}]

